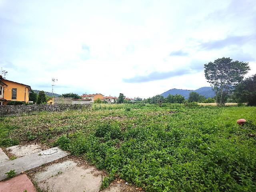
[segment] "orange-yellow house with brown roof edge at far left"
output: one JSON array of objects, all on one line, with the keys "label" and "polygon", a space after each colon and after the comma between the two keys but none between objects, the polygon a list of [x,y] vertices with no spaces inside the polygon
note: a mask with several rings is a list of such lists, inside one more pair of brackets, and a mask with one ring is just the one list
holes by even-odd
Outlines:
[{"label": "orange-yellow house with brown roof edge at far left", "polygon": [[10,81],[0,76],[0,104],[6,105],[9,101],[29,101],[31,87],[22,83]]}]

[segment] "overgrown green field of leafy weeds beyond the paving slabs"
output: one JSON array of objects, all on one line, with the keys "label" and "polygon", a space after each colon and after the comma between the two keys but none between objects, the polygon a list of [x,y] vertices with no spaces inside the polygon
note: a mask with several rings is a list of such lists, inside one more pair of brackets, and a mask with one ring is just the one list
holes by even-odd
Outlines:
[{"label": "overgrown green field of leafy weeds beyond the paving slabs", "polygon": [[256,191],[249,134],[256,107],[113,104],[0,118],[0,146],[59,145],[106,170],[103,187],[119,176],[150,192]]}]

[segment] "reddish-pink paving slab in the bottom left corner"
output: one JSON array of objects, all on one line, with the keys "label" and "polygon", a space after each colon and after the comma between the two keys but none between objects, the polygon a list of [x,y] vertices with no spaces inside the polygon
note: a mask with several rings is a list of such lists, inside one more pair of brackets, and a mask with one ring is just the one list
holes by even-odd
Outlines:
[{"label": "reddish-pink paving slab in the bottom left corner", "polygon": [[0,182],[0,192],[36,192],[36,188],[26,174]]}]

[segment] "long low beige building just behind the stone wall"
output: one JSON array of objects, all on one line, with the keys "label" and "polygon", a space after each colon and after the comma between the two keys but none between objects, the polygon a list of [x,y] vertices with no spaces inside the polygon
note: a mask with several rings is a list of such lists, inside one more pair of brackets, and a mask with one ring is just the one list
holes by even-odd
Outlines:
[{"label": "long low beige building just behind the stone wall", "polygon": [[73,99],[65,97],[53,97],[48,99],[47,104],[89,104],[92,100],[90,99]]}]

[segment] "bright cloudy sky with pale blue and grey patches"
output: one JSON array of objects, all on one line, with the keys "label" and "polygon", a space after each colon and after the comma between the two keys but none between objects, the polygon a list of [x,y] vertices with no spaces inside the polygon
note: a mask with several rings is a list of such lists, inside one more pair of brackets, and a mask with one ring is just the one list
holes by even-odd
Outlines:
[{"label": "bright cloudy sky with pale blue and grey patches", "polygon": [[0,0],[0,67],[34,90],[195,90],[222,57],[256,73],[255,0]]}]

